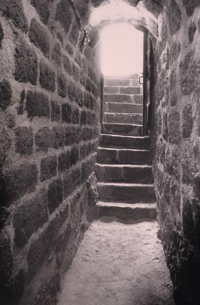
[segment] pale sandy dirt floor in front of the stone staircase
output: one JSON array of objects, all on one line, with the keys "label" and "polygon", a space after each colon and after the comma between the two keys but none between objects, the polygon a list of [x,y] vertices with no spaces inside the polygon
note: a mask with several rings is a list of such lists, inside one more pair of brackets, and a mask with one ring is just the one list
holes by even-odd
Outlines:
[{"label": "pale sandy dirt floor in front of the stone staircase", "polygon": [[174,305],[157,222],[94,221],[66,272],[59,305]]}]

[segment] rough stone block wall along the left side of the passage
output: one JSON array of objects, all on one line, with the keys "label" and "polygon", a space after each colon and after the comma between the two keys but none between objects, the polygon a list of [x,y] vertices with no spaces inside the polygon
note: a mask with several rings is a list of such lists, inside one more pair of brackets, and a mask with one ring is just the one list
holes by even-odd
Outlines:
[{"label": "rough stone block wall along the left side of the passage", "polygon": [[1,301],[51,305],[97,197],[98,60],[68,0],[0,14]]}]

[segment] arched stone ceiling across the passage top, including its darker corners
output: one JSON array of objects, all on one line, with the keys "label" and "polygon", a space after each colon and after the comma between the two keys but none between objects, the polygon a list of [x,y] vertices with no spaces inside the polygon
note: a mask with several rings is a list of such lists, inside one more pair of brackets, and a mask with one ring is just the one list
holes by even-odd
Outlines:
[{"label": "arched stone ceiling across the passage top, including its darker corners", "polygon": [[[165,4],[174,0],[74,0],[80,13],[81,19],[85,26],[90,38],[97,35],[98,29],[110,21],[128,21],[134,25],[145,28],[149,31],[150,35],[157,39],[158,37],[158,22],[159,15],[163,11]],[[110,10],[111,15],[108,13],[108,8],[112,4],[119,6],[126,6],[127,9],[121,14],[115,13],[117,10]],[[95,17],[96,15],[96,17]],[[94,22],[94,19],[96,21]]]}]

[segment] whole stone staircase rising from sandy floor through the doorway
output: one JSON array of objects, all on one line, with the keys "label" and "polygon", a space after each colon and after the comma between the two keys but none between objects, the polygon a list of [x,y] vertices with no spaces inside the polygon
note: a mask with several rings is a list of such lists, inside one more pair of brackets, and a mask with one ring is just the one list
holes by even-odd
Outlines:
[{"label": "whole stone staircase rising from sandy floor through the doorway", "polygon": [[150,139],[142,136],[142,93],[138,75],[106,79],[103,128],[96,175],[96,216],[123,220],[156,217]]}]

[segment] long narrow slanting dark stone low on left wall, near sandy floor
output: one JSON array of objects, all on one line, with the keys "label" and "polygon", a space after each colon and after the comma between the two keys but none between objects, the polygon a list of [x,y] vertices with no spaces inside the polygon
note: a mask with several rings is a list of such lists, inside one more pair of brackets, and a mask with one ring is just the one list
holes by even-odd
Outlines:
[{"label": "long narrow slanting dark stone low on left wall, near sandy floor", "polygon": [[40,267],[44,263],[45,259],[53,251],[56,245],[56,238],[59,228],[59,219],[55,216],[48,224],[46,229],[35,238],[31,243],[30,249],[27,255],[28,271],[27,278],[31,280],[36,273],[40,270]]}]

